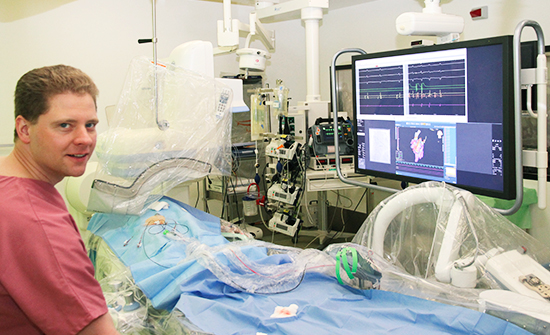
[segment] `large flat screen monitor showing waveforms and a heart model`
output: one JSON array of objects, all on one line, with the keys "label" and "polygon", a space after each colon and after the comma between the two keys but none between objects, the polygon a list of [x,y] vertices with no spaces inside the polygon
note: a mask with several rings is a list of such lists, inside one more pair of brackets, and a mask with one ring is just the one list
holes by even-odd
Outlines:
[{"label": "large flat screen monitor showing waveforms and a heart model", "polygon": [[356,172],[516,196],[512,36],[352,62]]}]

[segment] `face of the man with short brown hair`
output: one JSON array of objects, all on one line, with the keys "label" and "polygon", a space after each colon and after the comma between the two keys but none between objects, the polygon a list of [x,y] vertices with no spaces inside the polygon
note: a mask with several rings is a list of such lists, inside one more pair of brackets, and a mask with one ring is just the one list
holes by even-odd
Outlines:
[{"label": "face of the man with short brown hair", "polygon": [[58,94],[49,102],[49,110],[29,126],[29,136],[36,168],[55,184],[84,173],[95,148],[98,119],[89,94]]}]

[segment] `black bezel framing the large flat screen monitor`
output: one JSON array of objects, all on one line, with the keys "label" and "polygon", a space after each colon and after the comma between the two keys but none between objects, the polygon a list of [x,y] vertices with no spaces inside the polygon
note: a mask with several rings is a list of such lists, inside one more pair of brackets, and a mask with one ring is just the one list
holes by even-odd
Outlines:
[{"label": "black bezel framing the large flat screen monitor", "polygon": [[502,92],[503,92],[503,190],[479,188],[469,185],[449,184],[471,191],[474,194],[485,195],[500,199],[511,200],[516,197],[516,168],[515,168],[515,130],[514,130],[514,65],[513,65],[513,36],[498,36],[482,38],[471,41],[462,41],[449,44],[422,46],[408,49],[367,53],[364,55],[352,56],[352,80],[353,80],[353,129],[354,129],[354,164],[355,172],[358,174],[381,177],[392,180],[399,180],[410,183],[421,183],[427,179],[409,177],[404,175],[381,172],[377,170],[360,169],[358,166],[358,134],[357,134],[357,87],[356,87],[356,63],[363,59],[392,57],[408,54],[419,54],[439,50],[450,50],[457,48],[471,48],[486,45],[502,45]]}]

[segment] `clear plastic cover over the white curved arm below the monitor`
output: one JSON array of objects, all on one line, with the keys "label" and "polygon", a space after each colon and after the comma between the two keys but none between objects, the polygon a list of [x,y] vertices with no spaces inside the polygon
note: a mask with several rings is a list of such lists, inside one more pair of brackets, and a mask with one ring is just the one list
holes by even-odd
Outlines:
[{"label": "clear plastic cover over the white curved arm below the monitor", "polygon": [[531,296],[522,289],[522,263],[534,264],[528,271],[540,267],[541,276],[550,273],[548,245],[471,193],[439,182],[382,201],[352,242],[384,259],[381,289],[474,309],[488,289],[516,291],[519,284],[517,292]]}]

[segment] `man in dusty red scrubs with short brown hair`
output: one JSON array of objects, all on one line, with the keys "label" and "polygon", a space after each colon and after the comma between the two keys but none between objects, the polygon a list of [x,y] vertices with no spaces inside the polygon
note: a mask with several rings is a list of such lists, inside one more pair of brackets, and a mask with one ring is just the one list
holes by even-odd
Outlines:
[{"label": "man in dusty red scrubs with short brown hair", "polygon": [[85,171],[97,95],[89,76],[65,65],[17,83],[14,148],[0,158],[0,334],[118,334],[54,187]]}]

